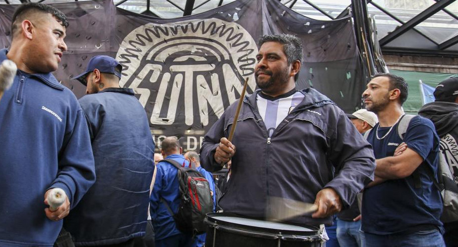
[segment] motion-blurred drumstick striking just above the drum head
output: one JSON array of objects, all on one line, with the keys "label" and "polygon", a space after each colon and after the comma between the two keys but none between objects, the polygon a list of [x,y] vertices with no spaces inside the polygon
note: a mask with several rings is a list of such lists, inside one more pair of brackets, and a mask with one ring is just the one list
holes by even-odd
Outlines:
[{"label": "motion-blurred drumstick striking just above the drum head", "polygon": [[282,197],[270,197],[268,203],[269,207],[266,218],[271,221],[283,221],[318,210],[318,205],[316,204]]}]

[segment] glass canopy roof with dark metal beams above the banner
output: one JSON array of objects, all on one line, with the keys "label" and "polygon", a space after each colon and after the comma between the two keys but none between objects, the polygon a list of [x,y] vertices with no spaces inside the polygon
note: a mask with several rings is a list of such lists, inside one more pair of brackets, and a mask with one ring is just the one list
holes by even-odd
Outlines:
[{"label": "glass canopy roof with dark metal beams above the banner", "polygon": [[[20,4],[30,0],[0,0]],[[32,0],[61,3],[78,0]],[[81,1],[81,0],[80,0]],[[114,0],[121,9],[159,18],[198,14],[234,0]],[[276,0],[270,0],[276,1]],[[354,0],[358,1],[358,0]],[[359,0],[362,1],[362,0]],[[458,56],[458,1],[367,0],[383,53]],[[317,20],[333,20],[348,13],[351,0],[281,0],[295,12]]]}]

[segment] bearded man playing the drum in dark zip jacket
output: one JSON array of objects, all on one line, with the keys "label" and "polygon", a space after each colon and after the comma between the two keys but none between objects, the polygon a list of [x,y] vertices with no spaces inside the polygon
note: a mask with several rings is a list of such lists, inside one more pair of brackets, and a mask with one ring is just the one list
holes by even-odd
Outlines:
[{"label": "bearded man playing the drum in dark zip jacket", "polygon": [[[227,192],[219,201],[224,212],[331,224],[331,215],[348,207],[373,180],[372,148],[334,102],[314,89],[295,89],[300,39],[265,35],[259,47],[255,78],[260,90],[243,99],[232,142],[227,137],[237,104],[212,126],[202,143],[202,166],[217,171],[232,160]],[[279,199],[282,207],[273,203]],[[313,203],[317,210],[304,214],[295,206],[301,204],[291,202]],[[285,208],[289,217],[283,217]]]}]

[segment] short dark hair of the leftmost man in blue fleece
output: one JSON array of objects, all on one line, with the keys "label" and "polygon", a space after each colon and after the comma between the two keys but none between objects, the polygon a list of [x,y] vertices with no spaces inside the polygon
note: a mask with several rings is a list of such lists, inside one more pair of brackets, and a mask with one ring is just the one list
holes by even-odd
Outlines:
[{"label": "short dark hair of the leftmost man in blue fleece", "polygon": [[69,21],[67,21],[67,17],[57,10],[54,7],[51,7],[50,5],[47,4],[42,4],[42,3],[29,3],[29,4],[24,4],[21,5],[18,9],[16,9],[14,15],[13,15],[13,21],[11,22],[11,34],[14,36],[16,29],[19,28],[19,23],[22,21],[26,20],[31,13],[34,13],[36,11],[42,12],[42,13],[49,13],[51,14],[57,21],[61,22],[62,26],[67,28],[69,26]]}]

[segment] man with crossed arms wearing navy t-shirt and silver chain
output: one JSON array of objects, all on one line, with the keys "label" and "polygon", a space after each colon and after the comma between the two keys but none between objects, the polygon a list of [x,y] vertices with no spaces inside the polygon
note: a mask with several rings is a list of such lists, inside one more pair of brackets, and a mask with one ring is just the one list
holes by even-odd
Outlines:
[{"label": "man with crossed arms wearing navy t-shirt and silver chain", "polygon": [[[387,73],[376,74],[363,93],[366,109],[379,121],[367,136],[377,158],[375,180],[363,194],[367,246],[444,246],[442,201],[428,175],[436,176],[439,138],[429,119],[415,116],[401,139],[398,124],[407,96],[404,78]],[[394,156],[403,141],[407,149]]]}]

